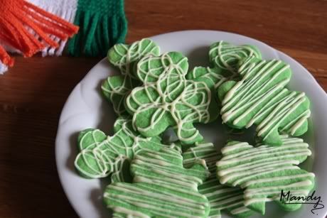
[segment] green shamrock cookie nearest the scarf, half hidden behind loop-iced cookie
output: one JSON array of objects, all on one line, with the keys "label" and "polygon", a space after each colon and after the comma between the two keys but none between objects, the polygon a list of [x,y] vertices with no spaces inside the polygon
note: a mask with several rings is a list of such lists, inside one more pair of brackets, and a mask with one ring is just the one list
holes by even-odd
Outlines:
[{"label": "green shamrock cookie nearest the scarf, half hidden behind loop-iced cookie", "polygon": [[126,95],[140,84],[137,80],[134,65],[146,55],[157,56],[160,48],[149,38],[136,41],[131,45],[117,44],[108,52],[109,62],[118,67],[122,75],[107,77],[102,84],[102,92],[118,115],[125,112],[124,99]]}]

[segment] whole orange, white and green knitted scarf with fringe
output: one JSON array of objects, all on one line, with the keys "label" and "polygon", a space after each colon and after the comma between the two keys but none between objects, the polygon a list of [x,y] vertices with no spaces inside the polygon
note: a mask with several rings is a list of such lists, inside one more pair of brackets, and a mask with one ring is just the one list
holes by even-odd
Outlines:
[{"label": "whole orange, white and green knitted scarf with fringe", "polygon": [[127,33],[123,0],[1,0],[0,13],[0,74],[14,65],[6,50],[104,56]]}]

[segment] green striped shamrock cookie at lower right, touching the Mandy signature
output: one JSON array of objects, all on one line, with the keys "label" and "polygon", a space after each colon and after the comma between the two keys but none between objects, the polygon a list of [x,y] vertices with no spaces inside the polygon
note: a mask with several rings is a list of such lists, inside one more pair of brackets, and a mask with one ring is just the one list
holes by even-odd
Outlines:
[{"label": "green striped shamrock cookie at lower right, touching the Mandy signature", "polygon": [[223,158],[217,162],[220,182],[245,189],[245,206],[262,214],[266,202],[272,200],[287,211],[299,209],[301,204],[280,201],[282,190],[305,197],[314,186],[314,174],[297,166],[311,155],[308,144],[301,138],[288,136],[282,136],[282,143],[279,147],[254,148],[233,141],[221,150]]}]

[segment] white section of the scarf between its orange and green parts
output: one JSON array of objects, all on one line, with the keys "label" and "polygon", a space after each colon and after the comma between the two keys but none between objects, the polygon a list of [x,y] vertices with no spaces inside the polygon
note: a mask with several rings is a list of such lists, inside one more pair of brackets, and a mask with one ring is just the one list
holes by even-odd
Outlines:
[{"label": "white section of the scarf between its orange and green parts", "polygon": [[[39,6],[41,9],[53,13],[66,21],[73,23],[77,11],[77,0],[27,0],[31,4]],[[42,56],[56,55],[60,56],[63,53],[67,40],[60,40],[55,36],[51,36],[51,39],[59,43],[58,48],[47,47],[42,50]]]}]

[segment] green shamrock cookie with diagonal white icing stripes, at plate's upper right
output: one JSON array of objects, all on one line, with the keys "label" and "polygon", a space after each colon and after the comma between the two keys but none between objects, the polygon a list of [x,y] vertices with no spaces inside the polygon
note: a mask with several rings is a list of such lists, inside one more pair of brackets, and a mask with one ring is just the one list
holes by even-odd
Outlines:
[{"label": "green shamrock cookie with diagonal white icing stripes, at plate's upper right", "polygon": [[308,129],[309,99],[304,92],[284,88],[291,69],[282,60],[252,58],[239,69],[242,80],[218,88],[223,123],[236,129],[257,126],[257,136],[269,145],[281,145],[279,133],[301,136]]}]

